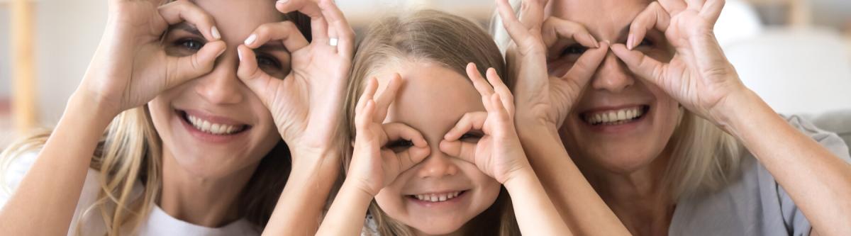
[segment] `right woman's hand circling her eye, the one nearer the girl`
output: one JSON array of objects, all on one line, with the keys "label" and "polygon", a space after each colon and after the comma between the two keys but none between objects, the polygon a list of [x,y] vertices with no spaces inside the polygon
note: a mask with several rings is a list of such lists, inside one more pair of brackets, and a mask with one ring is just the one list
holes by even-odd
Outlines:
[{"label": "right woman's hand circling her eye, the one nearer the girl", "polygon": [[[528,4],[521,9],[524,18],[520,20],[505,0],[497,3],[505,30],[512,39],[506,62],[511,76],[517,80],[514,93],[518,121],[561,126],[606,50],[578,23],[545,19],[544,1],[524,2]],[[551,76],[547,70],[547,50],[566,39],[597,49],[581,56],[564,76]]]}]

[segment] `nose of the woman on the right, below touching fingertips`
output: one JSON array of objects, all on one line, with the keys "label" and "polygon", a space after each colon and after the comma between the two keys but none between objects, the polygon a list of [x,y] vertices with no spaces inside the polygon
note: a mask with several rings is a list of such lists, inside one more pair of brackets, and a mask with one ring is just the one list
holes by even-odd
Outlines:
[{"label": "nose of the woman on the right, below touching fingertips", "polygon": [[606,54],[597,73],[591,78],[591,87],[611,93],[620,93],[635,83],[632,72],[611,51]]}]

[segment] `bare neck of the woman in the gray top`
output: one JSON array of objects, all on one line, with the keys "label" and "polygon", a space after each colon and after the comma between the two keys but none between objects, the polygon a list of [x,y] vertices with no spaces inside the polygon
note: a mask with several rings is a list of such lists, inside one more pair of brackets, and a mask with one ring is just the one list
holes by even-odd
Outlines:
[{"label": "bare neck of the woman in the gray top", "polygon": [[667,235],[675,200],[664,182],[668,155],[628,173],[584,171],[600,197],[633,235]]}]

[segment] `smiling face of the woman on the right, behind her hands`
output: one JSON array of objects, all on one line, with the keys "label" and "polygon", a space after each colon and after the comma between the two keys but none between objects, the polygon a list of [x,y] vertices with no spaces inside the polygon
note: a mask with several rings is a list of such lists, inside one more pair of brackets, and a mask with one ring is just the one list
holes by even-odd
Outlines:
[{"label": "smiling face of the woman on the right, behind her hands", "polygon": [[[597,41],[625,43],[632,20],[648,3],[558,0],[551,2],[548,12],[585,25]],[[577,45],[558,50],[563,50],[562,58],[548,66],[561,76],[584,50]],[[648,31],[648,37],[635,50],[660,61],[671,59],[668,42],[660,31]],[[677,101],[638,78],[609,51],[559,133],[578,164],[631,173],[648,166],[665,150],[679,121],[678,106]]]}]

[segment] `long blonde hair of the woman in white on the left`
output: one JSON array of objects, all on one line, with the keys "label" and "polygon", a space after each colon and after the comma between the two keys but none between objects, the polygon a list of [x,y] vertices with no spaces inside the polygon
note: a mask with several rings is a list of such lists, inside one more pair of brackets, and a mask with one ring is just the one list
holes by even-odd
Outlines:
[{"label": "long blonde hair of the woman in white on the left", "polygon": [[[311,38],[310,19],[304,14],[285,14],[283,20],[292,20],[306,38]],[[50,133],[49,130],[38,131],[11,143],[0,154],[0,178],[5,177],[15,158],[42,149]],[[83,216],[95,209],[100,210],[106,234],[120,235],[123,227],[135,232],[157,204],[163,186],[162,157],[162,140],[151,123],[147,105],[117,115],[94,150],[89,167],[100,171],[100,191],[94,205],[85,208],[78,217],[81,221],[77,222],[76,234],[83,234],[80,227],[84,223]],[[283,191],[290,167],[289,150],[282,140],[260,160],[243,188],[235,203],[241,206],[239,213],[263,228]],[[139,198],[134,198],[132,190],[137,182],[144,190]]]}]

